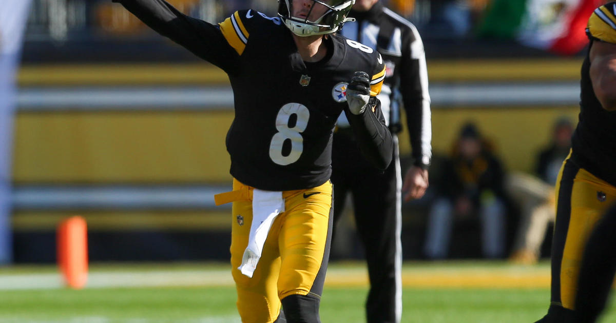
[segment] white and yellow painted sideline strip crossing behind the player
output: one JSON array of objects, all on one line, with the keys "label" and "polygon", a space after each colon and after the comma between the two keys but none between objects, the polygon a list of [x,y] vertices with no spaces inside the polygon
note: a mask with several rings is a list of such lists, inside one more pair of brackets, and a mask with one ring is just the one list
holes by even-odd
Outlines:
[{"label": "white and yellow painted sideline strip crossing behind the player", "polygon": [[[233,279],[222,265],[189,264],[156,265],[140,269],[140,265],[108,268],[93,266],[86,288],[131,287],[208,287],[232,286]],[[167,268],[165,268],[167,267]],[[36,272],[28,267],[0,271],[0,290],[62,289],[60,274],[52,266],[41,266]],[[145,268],[145,267],[144,267]],[[546,289],[549,288],[549,266],[508,265],[505,262],[464,261],[442,263],[405,263],[402,285],[407,288],[436,289]],[[368,284],[365,266],[360,263],[334,263],[328,269],[326,287],[363,287]]]}]

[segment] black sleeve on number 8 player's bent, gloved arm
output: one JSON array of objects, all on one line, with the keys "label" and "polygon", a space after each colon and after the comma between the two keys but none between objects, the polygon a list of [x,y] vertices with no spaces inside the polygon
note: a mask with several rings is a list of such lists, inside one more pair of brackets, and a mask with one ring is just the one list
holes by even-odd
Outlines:
[{"label": "black sleeve on number 8 player's bent, gloved arm", "polygon": [[[371,102],[372,100],[374,100],[374,103],[369,104],[362,114],[352,114],[348,106],[344,108],[344,113],[349,119],[349,124],[351,124],[351,129],[353,129],[363,156],[376,168],[384,170],[392,160],[394,140],[392,140],[391,132],[385,126],[381,102],[376,97],[373,97]],[[374,106],[374,111],[370,106]]]}]

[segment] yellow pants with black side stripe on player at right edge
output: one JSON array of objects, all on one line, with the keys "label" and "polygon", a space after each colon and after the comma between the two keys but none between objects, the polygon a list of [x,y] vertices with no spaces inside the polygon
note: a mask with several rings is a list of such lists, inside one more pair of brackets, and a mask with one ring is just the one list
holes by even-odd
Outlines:
[{"label": "yellow pants with black side stripe on player at right edge", "polygon": [[567,158],[556,182],[556,201],[551,302],[573,309],[586,241],[599,218],[616,201],[616,187]]}]

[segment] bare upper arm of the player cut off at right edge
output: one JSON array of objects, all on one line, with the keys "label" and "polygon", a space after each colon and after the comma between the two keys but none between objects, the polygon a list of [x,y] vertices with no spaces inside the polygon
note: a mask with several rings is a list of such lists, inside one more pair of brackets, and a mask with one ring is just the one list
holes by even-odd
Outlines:
[{"label": "bare upper arm of the player cut off at right edge", "polygon": [[616,111],[616,44],[593,42],[590,78],[601,106],[607,111]]}]

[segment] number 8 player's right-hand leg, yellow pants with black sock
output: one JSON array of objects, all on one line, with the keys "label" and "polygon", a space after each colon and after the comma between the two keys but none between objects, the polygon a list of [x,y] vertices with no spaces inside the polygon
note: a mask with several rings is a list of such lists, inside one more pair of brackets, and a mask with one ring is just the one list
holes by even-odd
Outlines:
[{"label": "number 8 player's right-hand leg, yellow pants with black sock", "polygon": [[317,323],[330,255],[331,183],[285,194],[286,212],[278,235],[282,260],[278,297],[287,322]]}]

